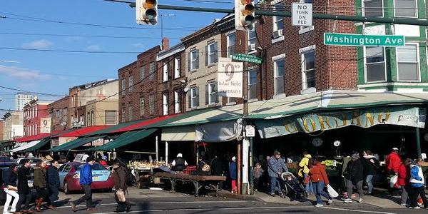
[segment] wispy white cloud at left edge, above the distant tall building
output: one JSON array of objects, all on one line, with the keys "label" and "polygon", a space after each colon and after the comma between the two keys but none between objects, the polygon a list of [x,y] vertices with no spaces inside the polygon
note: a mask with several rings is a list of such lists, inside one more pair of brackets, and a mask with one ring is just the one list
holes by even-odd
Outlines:
[{"label": "wispy white cloud at left edge, above the distant tall building", "polygon": [[40,73],[29,68],[19,68],[15,66],[1,66],[0,74],[6,75],[11,78],[16,78],[24,81],[47,81],[51,78],[51,75]]}]

